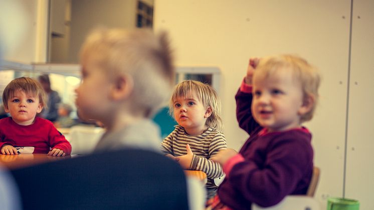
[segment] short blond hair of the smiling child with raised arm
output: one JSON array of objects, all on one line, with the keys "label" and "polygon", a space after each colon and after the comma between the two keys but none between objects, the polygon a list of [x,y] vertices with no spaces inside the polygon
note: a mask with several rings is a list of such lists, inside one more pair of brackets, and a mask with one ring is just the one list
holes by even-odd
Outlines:
[{"label": "short blond hair of the smiling child with raised arm", "polygon": [[255,70],[255,74],[261,74],[261,77],[268,78],[280,68],[290,69],[294,79],[300,82],[303,100],[308,96],[312,98],[311,110],[300,117],[301,122],[311,120],[319,97],[318,88],[321,80],[319,71],[299,56],[277,55],[262,58]]}]

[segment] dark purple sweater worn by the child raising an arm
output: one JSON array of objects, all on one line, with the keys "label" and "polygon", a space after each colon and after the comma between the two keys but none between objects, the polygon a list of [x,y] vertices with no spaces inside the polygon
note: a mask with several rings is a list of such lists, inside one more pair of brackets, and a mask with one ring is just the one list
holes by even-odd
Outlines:
[{"label": "dark purple sweater worn by the child raising an arm", "polygon": [[271,206],[289,194],[306,194],[312,170],[311,134],[306,128],[266,132],[251,114],[252,94],[236,95],[237,119],[250,134],[235,164],[218,189],[221,201],[233,209],[251,209],[252,202]]}]

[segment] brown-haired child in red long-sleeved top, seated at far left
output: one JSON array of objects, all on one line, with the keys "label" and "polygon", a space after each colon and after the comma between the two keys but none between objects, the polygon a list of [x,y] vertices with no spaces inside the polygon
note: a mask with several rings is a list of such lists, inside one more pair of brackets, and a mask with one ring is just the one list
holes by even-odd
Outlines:
[{"label": "brown-haired child in red long-sleeved top, seated at far left", "polygon": [[2,154],[70,154],[70,143],[53,123],[36,117],[46,106],[46,96],[38,81],[28,77],[14,79],[4,89],[3,103],[11,117],[0,120]]}]

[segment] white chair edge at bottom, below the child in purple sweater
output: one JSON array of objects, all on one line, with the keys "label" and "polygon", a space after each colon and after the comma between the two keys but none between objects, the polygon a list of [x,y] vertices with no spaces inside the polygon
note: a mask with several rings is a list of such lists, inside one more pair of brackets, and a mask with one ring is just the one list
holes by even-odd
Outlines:
[{"label": "white chair edge at bottom, below the child in purple sweater", "polygon": [[252,210],[320,210],[319,202],[310,196],[288,195],[278,204],[261,207],[252,203]]}]

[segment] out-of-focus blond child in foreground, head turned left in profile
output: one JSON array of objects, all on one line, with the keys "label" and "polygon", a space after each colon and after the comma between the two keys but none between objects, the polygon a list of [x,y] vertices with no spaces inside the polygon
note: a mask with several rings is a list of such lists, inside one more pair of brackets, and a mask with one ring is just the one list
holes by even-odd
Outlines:
[{"label": "out-of-focus blond child in foreground, head turned left in profile", "polygon": [[82,46],[81,65],[78,112],[106,127],[95,151],[137,147],[159,152],[159,128],[150,117],[174,81],[166,34],[97,30]]}]

